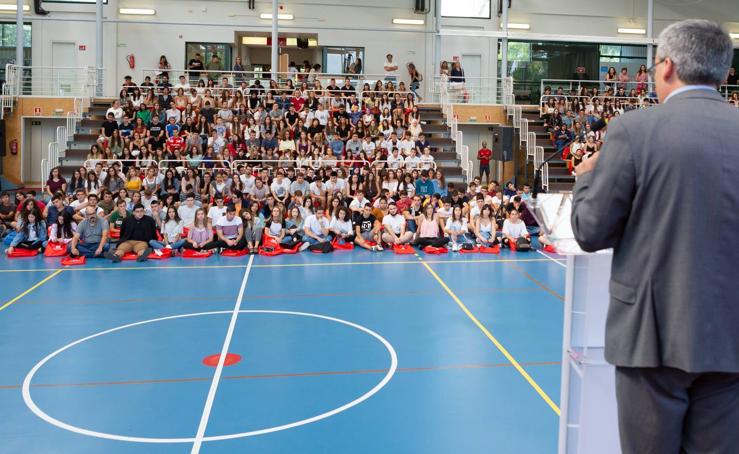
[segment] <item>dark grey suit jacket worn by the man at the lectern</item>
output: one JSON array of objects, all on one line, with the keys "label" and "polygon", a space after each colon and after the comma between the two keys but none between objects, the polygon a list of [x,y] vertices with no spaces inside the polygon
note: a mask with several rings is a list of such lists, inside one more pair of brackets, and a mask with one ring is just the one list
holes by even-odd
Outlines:
[{"label": "dark grey suit jacket worn by the man at the lectern", "polygon": [[690,90],[608,125],[572,227],[613,248],[606,359],[739,372],[739,109]]}]

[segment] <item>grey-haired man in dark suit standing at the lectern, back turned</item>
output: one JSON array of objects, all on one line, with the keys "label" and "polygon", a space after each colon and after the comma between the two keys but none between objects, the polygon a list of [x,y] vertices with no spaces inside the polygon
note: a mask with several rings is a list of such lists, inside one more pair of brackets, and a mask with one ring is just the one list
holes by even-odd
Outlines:
[{"label": "grey-haired man in dark suit standing at the lectern, back turned", "polygon": [[708,21],[667,27],[660,105],[608,125],[580,164],[572,226],[613,248],[606,359],[624,453],[739,452],[739,110],[716,88],[732,60]]}]

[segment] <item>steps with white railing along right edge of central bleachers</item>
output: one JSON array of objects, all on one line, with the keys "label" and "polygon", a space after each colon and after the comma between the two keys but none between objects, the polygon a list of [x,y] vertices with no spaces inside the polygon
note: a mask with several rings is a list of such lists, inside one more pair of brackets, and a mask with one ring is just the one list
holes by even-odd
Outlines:
[{"label": "steps with white railing along right edge of central bleachers", "polygon": [[444,121],[441,105],[419,104],[418,111],[421,115],[423,133],[431,144],[431,155],[434,157],[436,168],[444,173],[447,183],[454,183],[455,186],[464,184],[462,167],[454,149],[451,132]]}]

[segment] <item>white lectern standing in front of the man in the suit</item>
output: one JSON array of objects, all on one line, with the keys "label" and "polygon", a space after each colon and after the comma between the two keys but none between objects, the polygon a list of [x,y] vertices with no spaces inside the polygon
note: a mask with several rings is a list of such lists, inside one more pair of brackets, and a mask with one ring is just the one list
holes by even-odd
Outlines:
[{"label": "white lectern standing in front of the man in the suit", "polygon": [[571,193],[526,203],[567,260],[558,452],[619,454],[614,367],[604,359],[612,253],[588,254],[577,245]]}]

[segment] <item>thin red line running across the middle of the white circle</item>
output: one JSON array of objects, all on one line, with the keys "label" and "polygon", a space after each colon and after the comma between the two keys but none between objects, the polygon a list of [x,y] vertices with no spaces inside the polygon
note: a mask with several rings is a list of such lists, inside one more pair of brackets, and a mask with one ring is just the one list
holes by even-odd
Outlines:
[{"label": "thin red line running across the middle of the white circle", "polygon": [[[533,361],[530,363],[521,363],[524,366],[556,366],[560,361]],[[431,367],[399,367],[397,372],[434,372],[453,369],[494,369],[499,367],[512,367],[510,363],[497,364],[450,364],[445,366]],[[364,374],[385,374],[388,369],[357,369],[357,370],[338,370],[338,371],[318,371],[318,372],[297,372],[283,374],[261,374],[261,375],[230,375],[224,376],[222,380],[258,380],[270,378],[294,378],[294,377],[321,377],[330,375],[364,375]],[[87,382],[87,383],[39,383],[31,385],[32,388],[71,388],[71,387],[96,387],[96,386],[118,386],[118,385],[150,385],[160,383],[190,383],[199,381],[209,381],[213,377],[191,377],[191,378],[163,378],[157,380],[121,380],[121,381],[104,381],[104,382]],[[0,386],[0,389],[18,389],[21,385]]]}]

